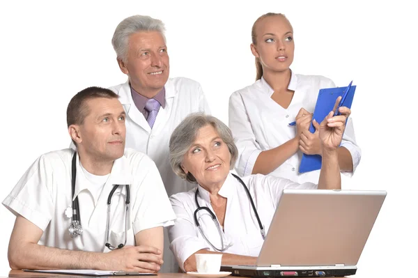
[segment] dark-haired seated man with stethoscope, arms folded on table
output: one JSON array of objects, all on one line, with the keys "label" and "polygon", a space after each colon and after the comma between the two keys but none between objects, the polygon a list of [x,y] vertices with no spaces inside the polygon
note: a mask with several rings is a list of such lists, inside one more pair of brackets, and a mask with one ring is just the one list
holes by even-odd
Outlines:
[{"label": "dark-haired seated man with stethoscope, arms folded on table", "polygon": [[17,216],[10,268],[160,270],[163,227],[175,215],[154,162],[125,150],[118,95],[80,91],[67,123],[77,152],[41,155],[3,201]]}]

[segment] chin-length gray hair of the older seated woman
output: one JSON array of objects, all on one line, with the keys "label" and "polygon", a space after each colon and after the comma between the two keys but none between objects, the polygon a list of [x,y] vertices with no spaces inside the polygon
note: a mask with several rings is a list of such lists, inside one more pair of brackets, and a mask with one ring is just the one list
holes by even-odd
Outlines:
[{"label": "chin-length gray hair of the older seated woman", "polygon": [[238,148],[233,141],[231,130],[219,119],[203,113],[189,114],[173,131],[170,138],[170,164],[174,173],[189,183],[196,183],[192,173],[185,173],[181,165],[183,158],[196,139],[197,132],[206,125],[212,125],[231,153],[230,169],[238,158]]}]

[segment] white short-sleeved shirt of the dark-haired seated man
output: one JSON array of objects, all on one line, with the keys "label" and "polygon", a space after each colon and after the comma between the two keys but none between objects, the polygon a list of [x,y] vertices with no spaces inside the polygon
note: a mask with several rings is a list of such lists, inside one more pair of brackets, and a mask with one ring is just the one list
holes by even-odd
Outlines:
[{"label": "white short-sleeved shirt of the dark-haired seated man", "polygon": [[73,153],[72,149],[64,149],[41,155],[3,201],[3,205],[15,215],[22,215],[43,231],[38,244],[60,249],[109,252],[104,243],[107,198],[113,185],[123,186],[119,186],[111,198],[111,245],[125,241],[126,184],[130,185],[127,245],[135,245],[134,235],[144,229],[173,224],[176,216],[157,167],[149,157],[134,150],[125,150],[125,155],[115,160],[98,201],[94,203],[77,155],[75,196],[79,197],[84,231],[77,238],[70,238],[68,227],[72,215],[67,217],[65,210],[72,206]]}]

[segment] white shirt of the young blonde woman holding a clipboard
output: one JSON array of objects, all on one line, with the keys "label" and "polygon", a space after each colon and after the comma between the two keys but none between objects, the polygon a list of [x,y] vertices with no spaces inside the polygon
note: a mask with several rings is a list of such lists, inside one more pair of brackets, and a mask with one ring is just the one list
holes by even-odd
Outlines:
[{"label": "white shirt of the young blonde woman holding a clipboard", "polygon": [[[295,138],[296,115],[303,107],[313,113],[320,88],[334,88],[331,79],[322,76],[296,75],[292,72],[288,89],[295,91],[291,104],[284,109],[271,96],[274,90],[261,78],[251,86],[236,91],[229,98],[229,128],[231,128],[239,157],[235,170],[240,176],[252,173],[258,155]],[[353,157],[353,172],[360,162],[361,150],[355,141],[352,116],[348,118],[341,146]],[[299,173],[302,152],[297,151],[270,175],[288,178],[296,183],[318,183],[319,170]],[[352,175],[353,172],[346,173]]]}]

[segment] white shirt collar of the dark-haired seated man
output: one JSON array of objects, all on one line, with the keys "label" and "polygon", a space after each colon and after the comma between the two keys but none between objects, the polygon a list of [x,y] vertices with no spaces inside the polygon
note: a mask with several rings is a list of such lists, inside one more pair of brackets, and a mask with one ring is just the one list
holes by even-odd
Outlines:
[{"label": "white shirt collar of the dark-haired seated man", "polygon": [[[86,190],[88,185],[88,180],[86,176],[84,176],[78,153],[75,161],[75,168],[77,174],[75,177],[75,192],[74,196],[72,196],[72,201],[74,201],[75,197],[77,197],[82,190]],[[130,169],[129,162],[125,155],[115,160],[113,166],[111,167],[110,176],[104,187],[132,184],[132,174],[128,169]]]}]

